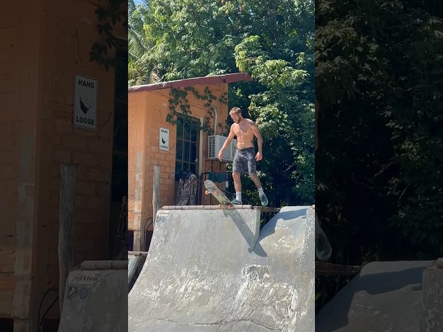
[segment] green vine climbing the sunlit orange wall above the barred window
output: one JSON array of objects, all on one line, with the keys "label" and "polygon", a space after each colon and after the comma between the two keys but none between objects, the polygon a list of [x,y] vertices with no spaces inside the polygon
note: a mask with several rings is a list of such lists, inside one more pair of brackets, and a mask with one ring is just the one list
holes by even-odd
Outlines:
[{"label": "green vine climbing the sunlit orange wall above the barred window", "polygon": [[[204,93],[200,94],[197,89],[192,86],[186,86],[182,89],[171,89],[169,99],[170,113],[166,116],[166,121],[172,124],[177,124],[177,116],[179,114],[191,114],[190,104],[188,100],[188,93],[195,95],[198,100],[204,100],[204,107],[207,109],[208,115],[204,118],[203,123],[199,125],[199,130],[203,130],[207,135],[213,135],[214,129],[210,126],[210,119],[214,118],[213,102],[217,100],[217,97],[213,95],[212,91],[205,87]],[[228,95],[224,93],[218,99],[221,104],[228,104]],[[192,122],[193,123],[193,122]]]}]

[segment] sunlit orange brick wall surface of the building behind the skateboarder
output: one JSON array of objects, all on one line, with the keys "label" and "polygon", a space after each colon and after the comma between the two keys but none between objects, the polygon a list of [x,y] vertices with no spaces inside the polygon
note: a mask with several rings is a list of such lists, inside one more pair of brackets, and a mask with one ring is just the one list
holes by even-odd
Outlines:
[{"label": "sunlit orange brick wall surface of the building behind the skateboarder", "polygon": [[[199,93],[204,93],[205,86],[195,86],[195,88]],[[227,93],[228,87],[227,84],[217,84],[209,86],[209,89],[218,98],[223,93]],[[175,204],[174,172],[177,128],[166,122],[166,116],[169,113],[169,95],[170,89],[129,93],[129,230],[143,232],[145,222],[152,219],[154,165],[161,167],[160,206]],[[203,121],[203,118],[208,115],[204,101],[198,100],[192,93],[188,93],[188,100],[192,116]],[[213,105],[217,107],[217,122],[224,126],[228,116],[227,105],[218,101],[213,102]],[[214,121],[213,118],[212,128]],[[169,151],[159,149],[160,128],[170,130]],[[223,130],[217,126],[217,134],[224,133]],[[202,153],[199,158],[202,160],[202,168],[206,169],[210,165],[205,162],[208,156],[206,134],[200,136],[200,144]],[[214,164],[218,169],[218,162],[215,161]],[[138,223],[141,223],[140,227]]]}]

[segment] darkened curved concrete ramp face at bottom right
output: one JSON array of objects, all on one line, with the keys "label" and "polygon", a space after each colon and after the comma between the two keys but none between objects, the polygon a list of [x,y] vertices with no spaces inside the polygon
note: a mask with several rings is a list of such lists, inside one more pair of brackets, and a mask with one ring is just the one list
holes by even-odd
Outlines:
[{"label": "darkened curved concrete ramp face at bottom right", "polygon": [[316,315],[316,332],[424,332],[419,331],[422,282],[431,264],[374,261],[363,266]]}]

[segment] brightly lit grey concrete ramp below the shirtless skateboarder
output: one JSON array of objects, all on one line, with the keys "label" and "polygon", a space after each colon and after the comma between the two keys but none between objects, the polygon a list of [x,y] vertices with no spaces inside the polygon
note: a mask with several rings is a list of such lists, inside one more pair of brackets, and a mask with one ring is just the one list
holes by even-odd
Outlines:
[{"label": "brightly lit grey concrete ramp below the shirtless skateboarder", "polygon": [[314,210],[159,210],[128,331],[314,332]]}]

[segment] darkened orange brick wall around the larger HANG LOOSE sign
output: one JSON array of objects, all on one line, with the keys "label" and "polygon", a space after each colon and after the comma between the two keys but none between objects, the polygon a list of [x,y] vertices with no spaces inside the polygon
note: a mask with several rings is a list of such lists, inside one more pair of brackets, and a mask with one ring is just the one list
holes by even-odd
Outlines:
[{"label": "darkened orange brick wall around the larger HANG LOOSE sign", "polygon": [[[114,70],[89,62],[98,39],[95,6],[71,1],[71,9],[46,1],[42,86],[42,185],[39,189],[38,260],[42,291],[58,286],[58,223],[60,163],[77,165],[75,195],[75,264],[85,259],[109,259],[109,209],[112,137],[114,129]],[[65,6],[65,5],[64,5]],[[67,5],[69,8],[69,5]],[[58,8],[58,10],[57,10]],[[69,13],[69,14],[68,14]],[[80,21],[80,24],[79,24]],[[117,28],[118,30],[118,28]],[[120,33],[123,28],[120,28]],[[123,34],[124,35],[124,34]],[[75,73],[98,79],[97,129],[73,127]],[[47,199],[48,198],[48,199]],[[59,314],[56,305],[48,317]]]}]

